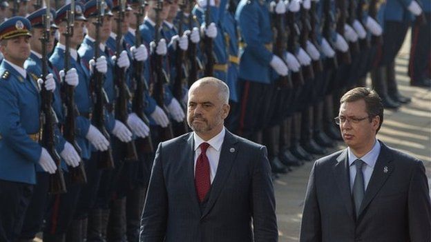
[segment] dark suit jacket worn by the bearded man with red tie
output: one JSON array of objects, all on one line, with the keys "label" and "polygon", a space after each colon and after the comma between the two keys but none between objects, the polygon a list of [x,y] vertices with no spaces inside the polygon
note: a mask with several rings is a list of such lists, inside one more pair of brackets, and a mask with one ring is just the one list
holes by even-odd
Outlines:
[{"label": "dark suit jacket worn by the bearded man with red tie", "polygon": [[193,147],[189,133],[157,148],[140,241],[277,241],[266,148],[226,131],[217,173],[202,207],[194,184]]}]

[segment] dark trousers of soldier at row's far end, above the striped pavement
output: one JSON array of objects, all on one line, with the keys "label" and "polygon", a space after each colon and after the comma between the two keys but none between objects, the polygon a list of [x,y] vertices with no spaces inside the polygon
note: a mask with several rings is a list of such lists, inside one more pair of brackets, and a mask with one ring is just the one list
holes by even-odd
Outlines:
[{"label": "dark trousers of soldier at row's far end, above the striped pavement", "polygon": [[392,63],[398,54],[407,34],[409,23],[398,21],[385,21],[385,31],[383,32],[383,56],[380,65]]}]

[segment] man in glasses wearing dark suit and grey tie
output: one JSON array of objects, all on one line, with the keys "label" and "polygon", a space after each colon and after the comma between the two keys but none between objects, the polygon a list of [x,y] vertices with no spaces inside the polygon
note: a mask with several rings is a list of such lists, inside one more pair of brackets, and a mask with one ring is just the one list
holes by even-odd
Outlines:
[{"label": "man in glasses wearing dark suit and grey tie", "polygon": [[300,241],[430,241],[425,168],[376,139],[379,95],[354,88],[340,103],[336,123],[348,148],[314,163]]}]

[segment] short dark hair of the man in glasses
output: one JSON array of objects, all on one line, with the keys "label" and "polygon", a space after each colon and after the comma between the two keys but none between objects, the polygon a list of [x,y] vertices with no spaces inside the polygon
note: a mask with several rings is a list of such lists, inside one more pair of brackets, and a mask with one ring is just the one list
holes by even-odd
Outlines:
[{"label": "short dark hair of the man in glasses", "polygon": [[365,110],[370,122],[374,117],[380,117],[380,123],[376,133],[379,132],[383,123],[383,103],[379,94],[370,88],[354,88],[346,92],[343,97],[341,97],[340,103],[351,103],[358,100],[365,101]]}]

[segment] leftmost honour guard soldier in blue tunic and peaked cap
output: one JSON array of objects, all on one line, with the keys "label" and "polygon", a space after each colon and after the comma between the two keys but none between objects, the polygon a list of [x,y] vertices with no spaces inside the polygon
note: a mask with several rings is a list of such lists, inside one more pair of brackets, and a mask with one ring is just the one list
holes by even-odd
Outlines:
[{"label": "leftmost honour guard soldier in blue tunic and peaked cap", "polygon": [[30,21],[12,17],[0,25],[0,240],[16,241],[36,183],[35,164],[54,174],[57,166],[41,139],[39,85],[55,90],[55,80],[36,82],[23,68],[30,57]]}]

